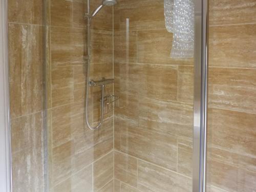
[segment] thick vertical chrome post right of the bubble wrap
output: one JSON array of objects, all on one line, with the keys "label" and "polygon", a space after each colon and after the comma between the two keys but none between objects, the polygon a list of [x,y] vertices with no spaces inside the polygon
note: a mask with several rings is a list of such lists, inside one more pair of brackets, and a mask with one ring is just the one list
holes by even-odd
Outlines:
[{"label": "thick vertical chrome post right of the bubble wrap", "polygon": [[195,0],[193,192],[206,191],[208,0]]}]

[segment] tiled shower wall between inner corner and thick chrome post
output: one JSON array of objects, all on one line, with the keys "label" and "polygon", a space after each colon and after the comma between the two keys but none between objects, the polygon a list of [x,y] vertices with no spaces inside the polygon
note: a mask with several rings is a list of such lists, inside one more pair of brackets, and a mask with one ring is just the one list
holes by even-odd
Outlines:
[{"label": "tiled shower wall between inner corner and thick chrome post", "polygon": [[115,191],[191,191],[193,59],[169,57],[164,1],[114,7]]}]

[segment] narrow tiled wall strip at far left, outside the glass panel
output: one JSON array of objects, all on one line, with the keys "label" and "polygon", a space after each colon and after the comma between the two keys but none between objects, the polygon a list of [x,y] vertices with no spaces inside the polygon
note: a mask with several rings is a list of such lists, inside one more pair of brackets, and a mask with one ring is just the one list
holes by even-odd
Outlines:
[{"label": "narrow tiled wall strip at far left, outside the glass panel", "polygon": [[13,192],[44,191],[42,20],[42,1],[8,1]]}]

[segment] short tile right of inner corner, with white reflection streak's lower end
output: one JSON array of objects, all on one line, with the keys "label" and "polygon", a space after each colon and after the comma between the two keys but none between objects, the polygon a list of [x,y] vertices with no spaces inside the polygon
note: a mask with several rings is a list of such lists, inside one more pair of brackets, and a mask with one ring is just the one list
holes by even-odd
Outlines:
[{"label": "short tile right of inner corner, with white reflection streak's lower end", "polygon": [[114,61],[115,64],[137,62],[137,32],[114,32]]}]

